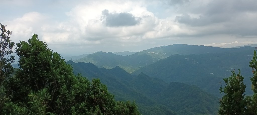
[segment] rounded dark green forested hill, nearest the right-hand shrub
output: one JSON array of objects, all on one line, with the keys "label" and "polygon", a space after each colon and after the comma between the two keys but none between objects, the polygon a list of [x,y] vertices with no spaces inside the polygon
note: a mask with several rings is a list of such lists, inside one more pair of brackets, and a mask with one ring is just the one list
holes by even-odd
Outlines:
[{"label": "rounded dark green forested hill, nearest the right-hand shrub", "polygon": [[197,86],[171,82],[155,98],[173,111],[183,115],[217,114],[218,98]]}]

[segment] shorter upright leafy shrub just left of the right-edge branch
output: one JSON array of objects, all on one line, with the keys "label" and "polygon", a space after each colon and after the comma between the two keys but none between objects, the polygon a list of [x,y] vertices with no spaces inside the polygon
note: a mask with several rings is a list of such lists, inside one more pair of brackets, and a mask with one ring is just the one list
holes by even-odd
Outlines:
[{"label": "shorter upright leafy shrub just left of the right-edge branch", "polygon": [[232,75],[229,78],[223,78],[225,82],[224,89],[220,88],[220,93],[223,94],[220,100],[219,114],[224,115],[241,115],[246,114],[246,104],[245,100],[245,88],[244,77],[238,69],[238,74],[235,71],[231,71]]}]

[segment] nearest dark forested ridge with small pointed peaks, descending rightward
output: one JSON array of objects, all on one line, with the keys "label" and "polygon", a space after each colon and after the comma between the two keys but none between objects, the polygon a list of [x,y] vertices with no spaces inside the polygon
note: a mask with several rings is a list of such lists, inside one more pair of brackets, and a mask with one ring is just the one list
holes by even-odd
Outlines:
[{"label": "nearest dark forested ridge with small pointed peaks, descending rightward", "polygon": [[[143,114],[216,114],[218,110],[218,98],[196,86],[184,83],[168,84],[159,78],[149,77],[144,73],[131,75],[119,66],[106,69],[98,68],[92,63],[74,63],[72,61],[67,63],[73,66],[75,74],[81,73],[88,79],[100,78],[101,82],[107,85],[108,90],[115,95],[116,100],[135,100]],[[174,89],[169,90],[170,87],[174,87]],[[191,91],[194,90],[197,92],[192,94]],[[165,97],[165,95],[169,96]],[[186,99],[185,96],[190,95],[194,95],[193,100],[202,101],[195,103],[190,98]],[[176,99],[187,100],[188,105],[182,106],[181,101]],[[169,101],[170,105],[164,103],[166,100],[171,100]],[[176,105],[178,106],[175,108]],[[202,106],[205,108],[195,108]],[[198,110],[199,112],[195,112]]]}]

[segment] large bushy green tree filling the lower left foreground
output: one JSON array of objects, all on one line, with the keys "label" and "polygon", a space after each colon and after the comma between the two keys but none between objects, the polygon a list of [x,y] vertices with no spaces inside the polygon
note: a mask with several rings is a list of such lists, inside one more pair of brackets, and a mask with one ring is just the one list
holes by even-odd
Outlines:
[{"label": "large bushy green tree filling the lower left foreground", "polygon": [[74,75],[61,56],[33,34],[17,43],[19,66],[6,81],[5,114],[139,114],[135,103],[115,101],[99,79]]}]

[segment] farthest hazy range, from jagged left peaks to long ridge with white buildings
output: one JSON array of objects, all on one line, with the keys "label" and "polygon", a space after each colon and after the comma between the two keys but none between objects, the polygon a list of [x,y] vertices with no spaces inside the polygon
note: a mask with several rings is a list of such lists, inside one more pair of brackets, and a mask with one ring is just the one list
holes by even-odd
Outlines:
[{"label": "farthest hazy range, from jagged left peaks to long ridge with white buildings", "polygon": [[86,57],[78,59],[74,62],[90,62],[95,64],[97,67],[113,68],[120,66],[129,73],[138,70],[141,67],[150,65],[154,62],[164,59],[168,56],[179,54],[179,55],[190,55],[190,54],[207,54],[207,53],[224,53],[224,52],[241,52],[245,48],[218,48],[218,47],[207,47],[203,45],[187,45],[187,44],[173,44],[168,46],[161,46],[158,48],[151,48],[141,52],[136,52],[132,55],[116,55],[112,52],[96,52],[89,54]]}]

